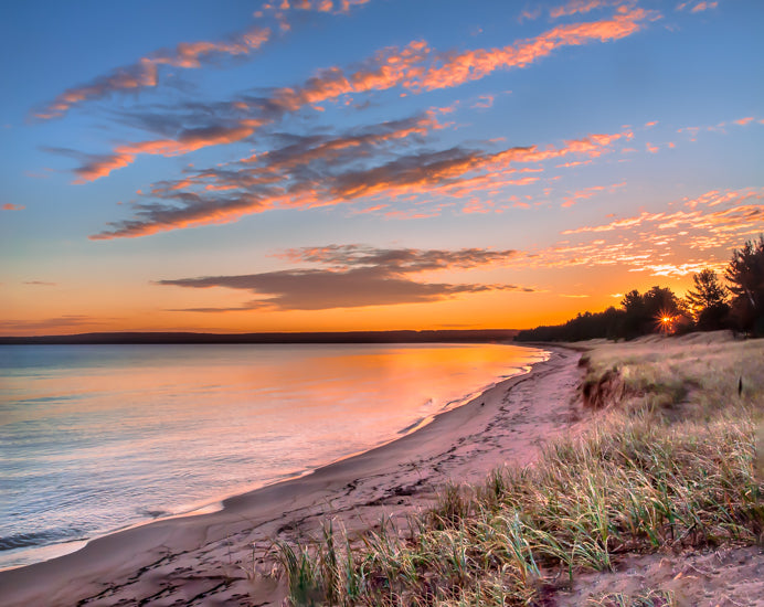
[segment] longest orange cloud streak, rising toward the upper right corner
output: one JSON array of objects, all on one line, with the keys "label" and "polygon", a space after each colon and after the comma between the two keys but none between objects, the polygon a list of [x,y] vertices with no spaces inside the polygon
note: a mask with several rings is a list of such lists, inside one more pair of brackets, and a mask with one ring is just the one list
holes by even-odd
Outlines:
[{"label": "longest orange cloud streak, rising toward the upper right corner", "polygon": [[[337,66],[328,67],[300,85],[277,88],[262,97],[242,96],[234,102],[206,106],[187,104],[165,116],[132,116],[132,119],[152,129],[180,134],[200,128],[221,128],[209,124],[210,116],[216,116],[221,124],[238,121],[243,125],[272,125],[287,113],[296,113],[304,107],[320,109],[321,103],[351,95],[386,90],[395,86],[415,93],[459,86],[488,76],[497,70],[527,67],[562,46],[626,38],[638,32],[645,22],[658,18],[659,14],[655,11],[622,7],[611,19],[559,25],[537,38],[522,40],[503,49],[478,49],[461,53],[435,52],[426,42],[413,41],[402,49],[382,49],[349,72]],[[187,61],[178,60],[178,63],[185,64]],[[350,99],[346,99],[346,103],[350,103]],[[173,140],[178,145],[173,145]],[[184,146],[176,137],[117,146],[110,153],[94,156],[92,162],[81,167],[76,171],[77,183],[98,179],[126,167],[138,153],[166,155],[165,151],[146,151],[145,148],[170,150],[171,155],[199,149]]]}]

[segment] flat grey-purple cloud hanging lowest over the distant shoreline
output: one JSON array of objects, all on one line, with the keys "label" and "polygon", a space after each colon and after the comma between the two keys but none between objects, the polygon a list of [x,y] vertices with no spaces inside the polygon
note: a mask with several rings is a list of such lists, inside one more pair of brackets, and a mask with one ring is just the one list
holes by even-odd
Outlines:
[{"label": "flat grey-purple cloud hanging lowest over the distant shoreline", "polygon": [[285,252],[295,262],[319,264],[320,268],[297,268],[237,276],[206,276],[159,280],[157,284],[188,288],[225,287],[259,296],[237,308],[193,308],[185,311],[220,312],[268,308],[274,310],[327,310],[368,306],[393,306],[453,299],[463,294],[520,290],[516,285],[420,283],[411,274],[439,269],[468,269],[501,263],[516,251],[380,249],[359,245],[330,245]]}]

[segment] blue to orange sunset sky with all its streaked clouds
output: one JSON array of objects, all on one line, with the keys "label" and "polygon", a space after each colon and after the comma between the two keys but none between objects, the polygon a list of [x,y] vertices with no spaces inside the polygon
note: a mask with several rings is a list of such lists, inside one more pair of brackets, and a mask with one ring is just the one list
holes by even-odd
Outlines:
[{"label": "blue to orange sunset sky with all its streaked clouds", "polygon": [[0,334],[528,328],[764,233],[760,0],[0,8]]}]

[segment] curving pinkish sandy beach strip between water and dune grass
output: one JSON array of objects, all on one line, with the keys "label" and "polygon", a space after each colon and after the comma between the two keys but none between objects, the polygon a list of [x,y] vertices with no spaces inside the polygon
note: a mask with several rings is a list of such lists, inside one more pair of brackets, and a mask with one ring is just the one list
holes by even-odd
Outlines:
[{"label": "curving pinkish sandy beach strip between water and dune grass", "polygon": [[157,521],[78,552],[0,573],[17,605],[282,605],[274,540],[316,535],[327,519],[350,533],[406,517],[446,482],[479,481],[529,464],[539,445],[581,417],[580,354],[562,348],[468,404],[376,449],[225,500],[214,513]]}]

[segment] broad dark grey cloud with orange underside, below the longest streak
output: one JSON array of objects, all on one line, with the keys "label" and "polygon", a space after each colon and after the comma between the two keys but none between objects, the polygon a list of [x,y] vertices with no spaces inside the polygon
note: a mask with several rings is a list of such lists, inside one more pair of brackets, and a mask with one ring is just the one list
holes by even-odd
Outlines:
[{"label": "broad dark grey cloud with orange underside, below the longest streak", "polygon": [[[132,220],[113,222],[93,239],[135,237],[193,225],[225,223],[276,207],[315,207],[384,198],[458,199],[466,190],[496,191],[538,178],[509,178],[518,166],[569,155],[596,158],[630,132],[593,134],[561,146],[518,146],[498,152],[453,147],[410,151],[442,128],[432,114],[372,125],[335,138],[278,135],[287,145],[237,163],[190,170],[155,184],[150,203],[134,205]],[[94,170],[98,167],[94,167]],[[388,213],[401,213],[390,210]],[[415,216],[432,216],[417,210]],[[392,215],[391,215],[392,216]],[[405,213],[405,216],[412,216]]]}]

